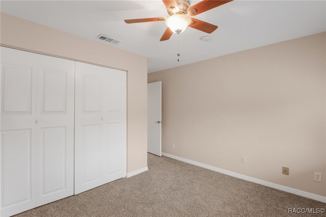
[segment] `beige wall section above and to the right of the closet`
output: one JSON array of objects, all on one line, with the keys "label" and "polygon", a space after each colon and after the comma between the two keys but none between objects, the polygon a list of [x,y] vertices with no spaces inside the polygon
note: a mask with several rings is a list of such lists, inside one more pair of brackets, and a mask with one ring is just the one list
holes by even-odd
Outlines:
[{"label": "beige wall section above and to the right of the closet", "polygon": [[[1,14],[1,45],[127,70],[127,172],[147,167],[147,59]],[[142,154],[142,159],[138,155]]]}]

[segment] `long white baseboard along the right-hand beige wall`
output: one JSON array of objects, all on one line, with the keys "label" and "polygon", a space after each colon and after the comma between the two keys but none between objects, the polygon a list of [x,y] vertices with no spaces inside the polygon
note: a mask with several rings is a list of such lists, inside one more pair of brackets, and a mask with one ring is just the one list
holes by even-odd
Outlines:
[{"label": "long white baseboard along the right-hand beige wall", "polygon": [[250,182],[257,183],[257,184],[272,187],[272,188],[281,190],[283,192],[292,193],[294,195],[299,195],[299,196],[302,196],[302,197],[306,197],[306,198],[310,198],[310,199],[313,199],[313,200],[316,200],[316,201],[326,203],[326,197],[323,197],[323,196],[320,196],[320,195],[312,194],[312,193],[309,193],[309,192],[304,192],[304,191],[301,191],[301,190],[298,190],[298,189],[295,189],[295,188],[283,186],[283,185],[280,185],[280,184],[275,184],[275,183],[264,181],[264,180],[261,180],[261,179],[256,179],[256,178],[253,178],[253,177],[250,177],[250,176],[245,176],[245,175],[242,175],[242,174],[239,174],[239,173],[234,173],[234,172],[231,172],[231,171],[228,171],[228,170],[224,170],[224,169],[221,169],[221,168],[217,168],[217,167],[213,167],[213,166],[210,166],[210,165],[202,164],[201,162],[197,162],[197,161],[194,161],[194,160],[189,160],[189,159],[186,159],[186,158],[183,158],[183,157],[178,157],[178,156],[175,156],[175,155],[172,155],[172,154],[162,152],[162,155],[173,158],[173,159],[176,159],[176,160],[186,162],[188,164],[192,164],[192,165],[195,165],[195,166],[198,166],[198,167],[202,167],[202,168],[205,168],[205,169],[208,169],[208,170],[223,173],[225,175],[233,176],[233,177],[243,179],[243,180],[246,180],[246,181],[250,181]]}]

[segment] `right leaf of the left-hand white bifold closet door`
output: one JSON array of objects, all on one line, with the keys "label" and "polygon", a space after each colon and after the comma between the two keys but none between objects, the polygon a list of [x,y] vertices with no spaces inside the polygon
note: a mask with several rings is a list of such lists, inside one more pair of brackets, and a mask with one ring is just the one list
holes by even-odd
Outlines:
[{"label": "right leaf of the left-hand white bifold closet door", "polygon": [[39,57],[37,76],[37,204],[73,195],[74,62]]}]

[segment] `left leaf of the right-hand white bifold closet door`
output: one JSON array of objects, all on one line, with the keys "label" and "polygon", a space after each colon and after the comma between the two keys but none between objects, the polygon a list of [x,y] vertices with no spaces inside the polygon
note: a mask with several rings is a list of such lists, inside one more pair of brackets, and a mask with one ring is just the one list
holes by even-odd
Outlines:
[{"label": "left leaf of the right-hand white bifold closet door", "polygon": [[102,184],[102,90],[93,65],[75,69],[75,194]]}]

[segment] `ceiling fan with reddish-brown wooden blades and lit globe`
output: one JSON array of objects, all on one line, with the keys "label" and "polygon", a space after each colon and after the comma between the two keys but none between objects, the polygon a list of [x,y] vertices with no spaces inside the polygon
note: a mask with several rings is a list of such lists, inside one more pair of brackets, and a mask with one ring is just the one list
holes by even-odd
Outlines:
[{"label": "ceiling fan with reddish-brown wooden blades and lit globe", "polygon": [[205,33],[212,33],[218,29],[218,26],[201,21],[199,19],[195,19],[192,16],[196,16],[200,13],[232,1],[233,0],[203,0],[196,5],[190,6],[188,0],[162,0],[162,2],[167,7],[168,14],[170,15],[169,17],[126,19],[124,21],[126,23],[165,21],[165,24],[168,28],[161,37],[160,41],[169,40],[173,33],[182,33],[187,28],[187,26]]}]

